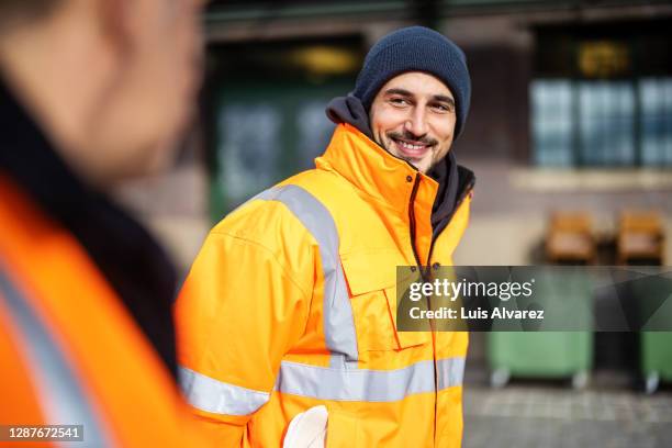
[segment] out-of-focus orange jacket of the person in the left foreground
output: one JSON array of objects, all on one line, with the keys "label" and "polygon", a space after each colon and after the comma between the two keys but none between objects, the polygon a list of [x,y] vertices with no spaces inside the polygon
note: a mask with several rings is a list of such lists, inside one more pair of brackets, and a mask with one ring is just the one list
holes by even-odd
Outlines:
[{"label": "out-of-focus orange jacket of the person in the left foreground", "polygon": [[83,441],[72,445],[81,447],[205,446],[158,355],[86,250],[5,176],[0,366],[1,425],[83,425]]}]

